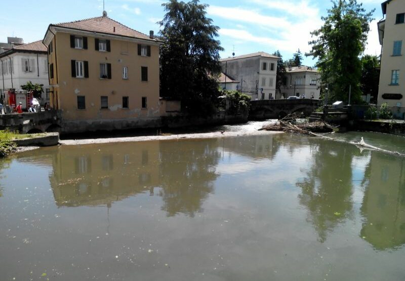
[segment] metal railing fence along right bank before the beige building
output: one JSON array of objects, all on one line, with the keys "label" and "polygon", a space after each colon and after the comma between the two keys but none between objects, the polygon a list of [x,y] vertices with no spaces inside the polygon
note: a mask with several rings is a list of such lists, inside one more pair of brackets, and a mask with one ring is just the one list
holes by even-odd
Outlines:
[{"label": "metal railing fence along right bank before the beige building", "polygon": [[365,120],[383,120],[405,123],[405,107],[387,105],[352,106],[352,117]]}]

